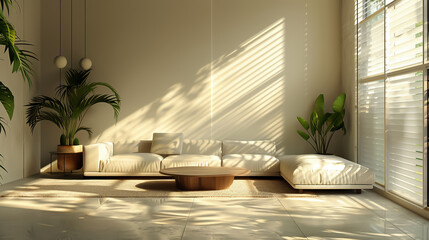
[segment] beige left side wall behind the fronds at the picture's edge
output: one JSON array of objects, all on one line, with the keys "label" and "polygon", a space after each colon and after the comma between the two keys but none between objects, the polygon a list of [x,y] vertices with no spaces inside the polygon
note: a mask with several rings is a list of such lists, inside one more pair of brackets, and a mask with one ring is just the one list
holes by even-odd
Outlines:
[{"label": "beige left side wall behind the fronds at the picture's edge", "polygon": [[[29,48],[40,58],[40,0],[18,0],[19,7],[11,10],[8,17],[14,25],[18,35],[34,44]],[[25,126],[25,108],[31,96],[37,94],[39,88],[40,63],[34,62],[33,86],[31,89],[24,83],[19,73],[12,74],[8,56],[2,54],[0,58],[0,79],[8,86],[15,97],[15,111],[12,121],[7,121],[7,136],[0,135],[0,153],[3,154],[3,164],[8,173],[1,171],[2,183],[20,179],[39,172],[40,167],[40,129],[37,128],[31,134]],[[6,117],[3,106],[0,107],[0,114]]]}]

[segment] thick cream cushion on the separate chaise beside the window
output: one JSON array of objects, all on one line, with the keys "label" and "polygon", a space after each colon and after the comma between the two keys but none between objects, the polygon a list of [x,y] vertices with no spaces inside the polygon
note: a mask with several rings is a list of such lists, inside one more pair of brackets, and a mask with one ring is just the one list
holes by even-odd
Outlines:
[{"label": "thick cream cushion on the separate chaise beside the window", "polygon": [[374,173],[357,163],[333,155],[305,154],[280,158],[280,172],[295,185],[364,185]]}]

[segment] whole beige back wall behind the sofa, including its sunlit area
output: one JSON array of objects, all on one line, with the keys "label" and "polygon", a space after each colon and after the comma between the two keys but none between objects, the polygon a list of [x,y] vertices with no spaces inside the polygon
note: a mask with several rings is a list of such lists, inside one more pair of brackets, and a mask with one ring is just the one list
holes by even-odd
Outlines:
[{"label": "whole beige back wall behind the sofa, including its sunlit area", "polygon": [[[59,1],[44,0],[43,93],[53,94],[59,71]],[[63,1],[62,55],[73,66],[85,55],[84,1]],[[153,132],[187,138],[273,139],[280,152],[311,148],[296,134],[296,116],[310,115],[324,93],[341,91],[339,0],[113,0],[87,1],[87,55],[93,81],[122,96],[115,124],[111,109],[96,106],[82,143],[151,139]],[[68,65],[70,67],[70,65]],[[67,67],[67,68],[68,68]],[[60,132],[42,125],[42,157]],[[337,139],[338,140],[338,139]],[[338,142],[331,148],[339,152]]]}]

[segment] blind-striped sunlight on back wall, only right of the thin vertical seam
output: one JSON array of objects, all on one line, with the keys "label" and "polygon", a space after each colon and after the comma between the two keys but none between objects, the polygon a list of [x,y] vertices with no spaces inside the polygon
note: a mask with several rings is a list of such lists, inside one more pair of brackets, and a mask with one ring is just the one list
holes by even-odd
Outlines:
[{"label": "blind-striped sunlight on back wall, only right of the thin vertical seam", "polygon": [[284,19],[213,63],[213,138],[275,140],[281,145]]}]

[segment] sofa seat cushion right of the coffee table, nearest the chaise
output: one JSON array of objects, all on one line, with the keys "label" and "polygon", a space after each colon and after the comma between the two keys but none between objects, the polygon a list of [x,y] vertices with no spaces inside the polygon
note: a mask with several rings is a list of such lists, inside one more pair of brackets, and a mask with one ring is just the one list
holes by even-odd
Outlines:
[{"label": "sofa seat cushion right of the coffee table, nearest the chaise", "polygon": [[265,154],[228,154],[222,158],[224,167],[241,167],[251,172],[279,172],[280,162],[271,155]]}]

